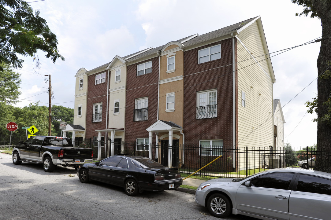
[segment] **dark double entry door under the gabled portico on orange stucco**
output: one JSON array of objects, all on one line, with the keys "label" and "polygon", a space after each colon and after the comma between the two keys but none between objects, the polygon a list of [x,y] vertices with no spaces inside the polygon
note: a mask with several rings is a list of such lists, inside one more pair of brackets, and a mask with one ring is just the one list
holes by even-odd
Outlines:
[{"label": "dark double entry door under the gabled portico on orange stucco", "polygon": [[[179,140],[172,140],[172,166],[178,167]],[[161,164],[168,166],[169,140],[161,140]]]}]

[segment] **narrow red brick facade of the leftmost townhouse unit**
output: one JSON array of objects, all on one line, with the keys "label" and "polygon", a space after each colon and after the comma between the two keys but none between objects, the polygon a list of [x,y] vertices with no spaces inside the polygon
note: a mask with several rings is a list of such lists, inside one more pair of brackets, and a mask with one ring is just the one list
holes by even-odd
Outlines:
[{"label": "narrow red brick facade of the leftmost townhouse unit", "polygon": [[[100,73],[106,73],[106,81],[95,85],[95,76]],[[107,82],[108,71],[98,72],[88,76],[87,87],[87,105],[86,105],[86,138],[93,138],[98,136],[95,130],[106,129],[106,113],[107,113]],[[93,104],[102,103],[102,121],[92,122],[93,117]],[[105,137],[105,133],[102,133]],[[106,137],[105,137],[106,140]]]}]

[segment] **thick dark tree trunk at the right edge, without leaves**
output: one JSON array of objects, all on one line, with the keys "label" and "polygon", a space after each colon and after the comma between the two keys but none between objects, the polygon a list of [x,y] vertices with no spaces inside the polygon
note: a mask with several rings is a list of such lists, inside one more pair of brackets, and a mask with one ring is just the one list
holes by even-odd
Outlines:
[{"label": "thick dark tree trunk at the right edge, without leaves", "polygon": [[[328,113],[327,105],[323,105],[331,95],[331,78],[321,78],[321,74],[331,66],[331,2],[329,0],[311,0],[322,24],[322,41],[317,59],[317,117]],[[325,40],[323,40],[325,39]],[[315,160],[315,170],[331,173],[331,125],[326,122],[317,122],[317,151],[319,154]]]}]

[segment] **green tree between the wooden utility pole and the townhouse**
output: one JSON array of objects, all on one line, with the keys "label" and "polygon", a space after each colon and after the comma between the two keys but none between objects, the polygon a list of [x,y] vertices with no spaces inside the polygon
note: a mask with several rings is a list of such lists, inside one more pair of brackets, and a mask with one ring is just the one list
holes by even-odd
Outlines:
[{"label": "green tree between the wooden utility pole and the townhouse", "polygon": [[[67,122],[67,124],[73,124],[73,109],[66,108],[63,106],[52,106],[52,125],[54,126],[54,129],[52,130],[52,135],[54,136],[60,136],[61,130],[60,130],[60,122],[64,121]],[[70,137],[71,134],[68,134],[67,137]]]}]

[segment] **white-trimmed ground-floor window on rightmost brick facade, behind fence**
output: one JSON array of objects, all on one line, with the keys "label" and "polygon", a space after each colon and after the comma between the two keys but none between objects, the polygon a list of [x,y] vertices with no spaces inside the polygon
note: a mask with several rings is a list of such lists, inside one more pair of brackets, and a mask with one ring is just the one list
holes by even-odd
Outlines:
[{"label": "white-trimmed ground-floor window on rightmost brick facade, behind fence", "polygon": [[199,144],[202,156],[223,155],[223,140],[200,140]]}]

